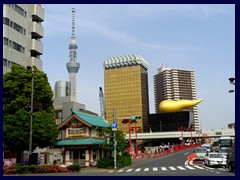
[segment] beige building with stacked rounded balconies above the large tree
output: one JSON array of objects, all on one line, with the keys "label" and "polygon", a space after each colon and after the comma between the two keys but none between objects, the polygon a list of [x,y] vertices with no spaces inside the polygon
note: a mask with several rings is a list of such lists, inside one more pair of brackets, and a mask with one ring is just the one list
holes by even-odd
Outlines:
[{"label": "beige building with stacked rounded balconies above the large tree", "polygon": [[42,71],[43,21],[39,4],[3,4],[3,73],[13,64]]}]

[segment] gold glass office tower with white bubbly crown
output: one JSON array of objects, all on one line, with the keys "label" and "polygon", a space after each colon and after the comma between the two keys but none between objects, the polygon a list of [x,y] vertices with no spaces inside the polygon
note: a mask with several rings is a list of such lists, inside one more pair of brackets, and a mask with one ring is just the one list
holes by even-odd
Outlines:
[{"label": "gold glass office tower with white bubbly crown", "polygon": [[118,129],[128,132],[121,123],[131,116],[141,116],[132,126],[149,132],[148,63],[139,55],[112,57],[104,62],[105,114],[109,123],[116,113]]}]

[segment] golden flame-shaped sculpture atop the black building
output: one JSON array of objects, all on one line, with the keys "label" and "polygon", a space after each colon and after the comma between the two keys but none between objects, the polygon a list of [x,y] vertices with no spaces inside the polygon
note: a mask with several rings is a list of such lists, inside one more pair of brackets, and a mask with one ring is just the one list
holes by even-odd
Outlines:
[{"label": "golden flame-shaped sculpture atop the black building", "polygon": [[171,100],[167,99],[161,101],[159,104],[159,110],[163,113],[176,112],[185,108],[193,107],[198,103],[202,102],[203,99],[198,100]]}]

